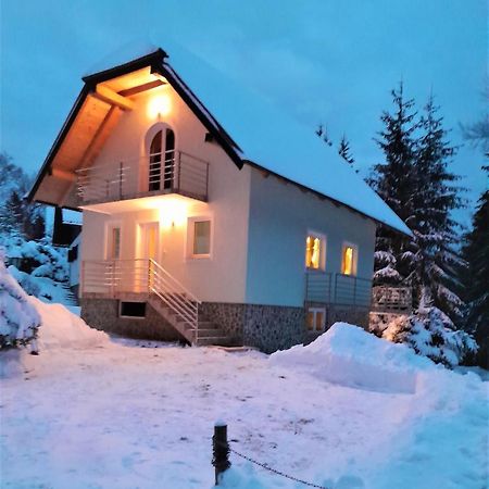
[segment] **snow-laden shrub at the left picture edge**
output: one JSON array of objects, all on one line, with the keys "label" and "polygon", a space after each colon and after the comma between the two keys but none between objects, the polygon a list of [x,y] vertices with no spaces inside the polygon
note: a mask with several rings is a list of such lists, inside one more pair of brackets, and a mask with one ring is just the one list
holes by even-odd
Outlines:
[{"label": "snow-laden shrub at the left picture edge", "polygon": [[36,338],[40,316],[9,274],[0,253],[0,349],[25,346]]}]

